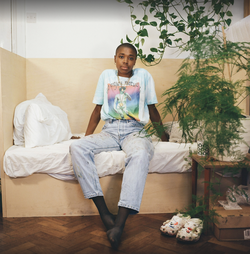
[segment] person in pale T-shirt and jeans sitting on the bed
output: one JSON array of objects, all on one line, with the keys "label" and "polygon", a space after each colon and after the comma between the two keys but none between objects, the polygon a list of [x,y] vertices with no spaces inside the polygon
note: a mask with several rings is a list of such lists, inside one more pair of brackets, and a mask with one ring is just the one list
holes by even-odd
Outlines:
[{"label": "person in pale T-shirt and jeans sitting on the bed", "polygon": [[[85,137],[71,145],[74,173],[85,198],[92,199],[107,228],[107,237],[114,249],[118,244],[129,213],[140,209],[150,160],[154,154],[151,139],[145,136],[144,125],[149,119],[161,124],[155,107],[154,81],[145,69],[134,69],[137,51],[129,43],[116,49],[117,70],[105,70],[98,81],[93,99],[96,104]],[[93,134],[100,119],[102,131]],[[162,141],[168,141],[165,133]],[[123,150],[126,153],[118,214],[115,217],[106,206],[94,155],[102,151]]]}]

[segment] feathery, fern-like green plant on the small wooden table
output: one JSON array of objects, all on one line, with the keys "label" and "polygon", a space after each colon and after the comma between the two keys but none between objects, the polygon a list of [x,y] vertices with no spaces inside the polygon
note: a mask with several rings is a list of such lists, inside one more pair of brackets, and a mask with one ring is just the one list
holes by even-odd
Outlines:
[{"label": "feathery, fern-like green plant on the small wooden table", "polygon": [[[241,109],[237,100],[249,94],[246,80],[233,81],[232,74],[249,74],[250,45],[232,43],[212,36],[202,36],[186,46],[190,57],[178,71],[174,86],[163,93],[163,118],[172,114],[179,119],[185,142],[193,140],[198,129],[210,154],[224,156],[241,140]],[[228,68],[230,73],[227,74]]]}]

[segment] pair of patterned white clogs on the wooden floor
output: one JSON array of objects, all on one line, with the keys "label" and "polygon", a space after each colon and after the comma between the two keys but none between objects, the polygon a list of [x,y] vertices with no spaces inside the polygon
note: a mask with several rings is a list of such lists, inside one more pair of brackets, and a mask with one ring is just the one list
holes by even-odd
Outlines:
[{"label": "pair of patterned white clogs on the wooden floor", "polygon": [[203,222],[198,218],[191,218],[178,213],[171,220],[167,220],[160,227],[161,233],[167,236],[176,236],[183,242],[197,242],[200,239]]}]

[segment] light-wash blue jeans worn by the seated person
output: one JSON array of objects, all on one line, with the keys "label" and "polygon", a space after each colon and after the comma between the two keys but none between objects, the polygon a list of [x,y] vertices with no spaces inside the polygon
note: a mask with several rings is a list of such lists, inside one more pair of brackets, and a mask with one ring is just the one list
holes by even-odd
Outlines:
[{"label": "light-wash blue jeans worn by the seated person", "polygon": [[149,162],[154,155],[151,139],[145,137],[142,128],[143,125],[135,120],[108,120],[100,133],[71,144],[73,170],[85,198],[103,196],[94,155],[123,150],[126,153],[125,171],[118,206],[139,212]]}]

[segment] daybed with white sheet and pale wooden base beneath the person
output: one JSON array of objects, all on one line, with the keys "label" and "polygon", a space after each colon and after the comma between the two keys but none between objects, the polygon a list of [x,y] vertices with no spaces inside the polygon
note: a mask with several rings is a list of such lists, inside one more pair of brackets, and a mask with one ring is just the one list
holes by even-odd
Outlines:
[{"label": "daybed with white sheet and pale wooden base beneath the person", "polygon": [[[14,145],[5,152],[4,171],[9,176],[7,217],[97,214],[74,178],[69,154],[74,141],[35,148]],[[154,142],[154,145],[155,155],[140,212],[174,212],[191,202],[191,173],[184,158],[188,158],[190,149],[196,149],[196,144]],[[124,157],[123,151],[102,152],[95,157],[105,199],[114,213]]]}]

